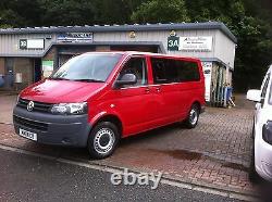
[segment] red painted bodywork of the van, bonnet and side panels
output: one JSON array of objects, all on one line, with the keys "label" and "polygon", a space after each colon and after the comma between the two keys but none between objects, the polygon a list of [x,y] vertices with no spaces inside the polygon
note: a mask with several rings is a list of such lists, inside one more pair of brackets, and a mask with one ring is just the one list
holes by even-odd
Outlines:
[{"label": "red painted bodywork of the van, bonnet and side panels", "polygon": [[[119,72],[132,55],[146,56],[149,85],[113,89]],[[150,55],[197,62],[200,81],[153,85]],[[186,118],[194,102],[205,104],[205,79],[201,62],[198,59],[123,52],[123,58],[103,84],[46,79],[24,89],[21,97],[48,103],[87,101],[91,125],[101,117],[114,115],[121,121],[122,135],[126,137]]]}]

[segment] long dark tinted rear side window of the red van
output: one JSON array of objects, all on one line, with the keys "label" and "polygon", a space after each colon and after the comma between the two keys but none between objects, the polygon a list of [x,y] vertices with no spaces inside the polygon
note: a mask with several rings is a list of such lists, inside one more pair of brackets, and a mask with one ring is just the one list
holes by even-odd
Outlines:
[{"label": "long dark tinted rear side window of the red van", "polygon": [[196,62],[151,59],[154,84],[197,81],[200,79]]}]

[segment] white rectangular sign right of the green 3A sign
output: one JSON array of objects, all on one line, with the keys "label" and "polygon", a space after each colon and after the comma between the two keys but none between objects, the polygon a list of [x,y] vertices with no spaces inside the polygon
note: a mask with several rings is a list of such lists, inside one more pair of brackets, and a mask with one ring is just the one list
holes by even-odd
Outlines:
[{"label": "white rectangular sign right of the green 3A sign", "polygon": [[211,51],[212,37],[180,37],[180,50]]}]

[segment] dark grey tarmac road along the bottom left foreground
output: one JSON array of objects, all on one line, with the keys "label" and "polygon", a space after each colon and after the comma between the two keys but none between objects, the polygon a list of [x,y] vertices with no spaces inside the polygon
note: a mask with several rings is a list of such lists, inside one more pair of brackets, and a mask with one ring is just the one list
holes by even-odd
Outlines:
[{"label": "dark grey tarmac road along the bottom left foreground", "polygon": [[0,162],[0,201],[238,201],[166,185],[114,186],[106,172],[4,150]]}]

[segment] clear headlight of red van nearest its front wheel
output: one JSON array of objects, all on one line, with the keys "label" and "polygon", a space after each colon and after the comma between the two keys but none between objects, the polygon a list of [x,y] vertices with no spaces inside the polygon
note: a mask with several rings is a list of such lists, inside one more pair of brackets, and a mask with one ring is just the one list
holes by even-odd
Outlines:
[{"label": "clear headlight of red van nearest its front wheel", "polygon": [[53,104],[51,109],[52,114],[86,114],[87,102],[82,103],[60,103]]}]

